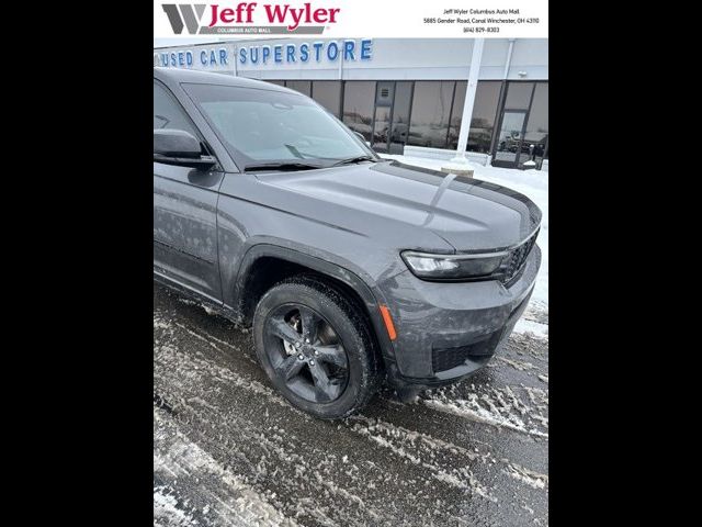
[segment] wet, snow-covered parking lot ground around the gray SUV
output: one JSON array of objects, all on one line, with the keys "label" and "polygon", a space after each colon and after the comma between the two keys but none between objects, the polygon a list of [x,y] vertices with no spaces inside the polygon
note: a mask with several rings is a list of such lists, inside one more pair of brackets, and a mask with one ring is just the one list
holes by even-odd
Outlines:
[{"label": "wet, snow-covered parking lot ground around the gray SUV", "polygon": [[548,175],[476,169],[542,209],[542,269],[488,367],[415,403],[384,391],[315,419],[272,389],[247,330],[154,284],[155,525],[548,524]]}]

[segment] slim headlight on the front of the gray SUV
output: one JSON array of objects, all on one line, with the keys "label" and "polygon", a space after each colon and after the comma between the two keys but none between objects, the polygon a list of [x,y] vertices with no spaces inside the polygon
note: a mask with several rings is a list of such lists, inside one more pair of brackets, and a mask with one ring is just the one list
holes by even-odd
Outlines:
[{"label": "slim headlight on the front of the gray SUV", "polygon": [[418,278],[428,280],[469,280],[487,278],[500,269],[508,253],[475,255],[431,255],[405,250],[405,264]]}]

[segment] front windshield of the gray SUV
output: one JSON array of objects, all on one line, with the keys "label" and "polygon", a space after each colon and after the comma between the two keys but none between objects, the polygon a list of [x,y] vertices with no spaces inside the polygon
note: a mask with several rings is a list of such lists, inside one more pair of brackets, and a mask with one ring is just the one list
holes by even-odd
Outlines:
[{"label": "front windshield of the gray SUV", "polygon": [[306,97],[234,86],[183,88],[241,169],[376,159],[353,132]]}]

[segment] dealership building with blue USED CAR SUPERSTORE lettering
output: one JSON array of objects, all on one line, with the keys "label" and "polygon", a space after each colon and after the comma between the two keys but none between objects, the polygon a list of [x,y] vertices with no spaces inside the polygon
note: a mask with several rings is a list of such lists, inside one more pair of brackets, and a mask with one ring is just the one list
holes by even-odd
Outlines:
[{"label": "dealership building with blue USED CAR SUPERSTORE lettering", "polygon": [[486,38],[482,53],[475,45],[469,38],[227,40],[155,47],[154,66],[286,86],[315,99],[378,153],[450,159],[476,61],[467,157],[547,170],[548,41]]}]

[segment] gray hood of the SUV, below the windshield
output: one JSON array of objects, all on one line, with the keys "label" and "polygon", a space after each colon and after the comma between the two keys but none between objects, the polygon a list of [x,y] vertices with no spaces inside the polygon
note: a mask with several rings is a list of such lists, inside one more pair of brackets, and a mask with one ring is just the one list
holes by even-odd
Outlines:
[{"label": "gray hood of the SUV, below the windshield", "polygon": [[[430,231],[457,251],[517,245],[541,223],[539,208],[519,192],[398,161],[260,173],[257,178],[267,186],[336,205],[333,217],[324,217],[326,223],[371,236],[400,223],[414,232]],[[308,210],[305,215],[312,214]],[[407,240],[397,242],[404,248],[416,248]]]}]

